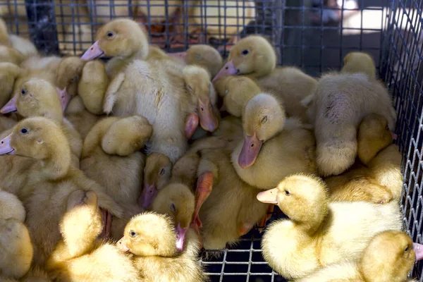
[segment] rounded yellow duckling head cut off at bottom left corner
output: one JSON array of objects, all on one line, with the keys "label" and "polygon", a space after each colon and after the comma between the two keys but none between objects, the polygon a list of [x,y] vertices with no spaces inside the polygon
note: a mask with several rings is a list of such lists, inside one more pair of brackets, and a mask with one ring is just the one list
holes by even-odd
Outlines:
[{"label": "rounded yellow duckling head cut off at bottom left corner", "polygon": [[30,233],[17,219],[0,219],[0,273],[20,278],[30,269],[34,249]]}]

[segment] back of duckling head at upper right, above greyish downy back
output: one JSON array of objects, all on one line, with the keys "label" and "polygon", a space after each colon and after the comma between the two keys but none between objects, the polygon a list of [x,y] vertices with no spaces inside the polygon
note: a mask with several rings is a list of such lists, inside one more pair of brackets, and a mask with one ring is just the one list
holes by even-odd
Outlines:
[{"label": "back of duckling head at upper right, above greyish downy back", "polygon": [[350,52],[344,57],[341,73],[365,73],[376,80],[376,66],[372,56],[364,52]]}]

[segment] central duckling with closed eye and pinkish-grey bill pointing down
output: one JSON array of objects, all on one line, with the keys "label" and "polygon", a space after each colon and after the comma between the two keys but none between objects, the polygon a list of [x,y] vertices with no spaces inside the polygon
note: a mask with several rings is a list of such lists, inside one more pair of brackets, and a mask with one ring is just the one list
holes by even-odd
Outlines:
[{"label": "central duckling with closed eye and pinkish-grey bill pointing down", "polygon": [[293,173],[315,173],[314,136],[270,94],[252,97],[243,112],[244,140],[232,152],[233,166],[246,183],[260,189]]}]

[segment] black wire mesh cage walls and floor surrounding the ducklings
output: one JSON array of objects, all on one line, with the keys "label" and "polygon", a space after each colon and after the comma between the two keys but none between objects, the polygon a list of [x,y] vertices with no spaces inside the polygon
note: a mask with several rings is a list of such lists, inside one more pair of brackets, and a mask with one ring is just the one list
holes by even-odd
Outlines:
[{"label": "black wire mesh cage walls and floor surrounding the ducklings", "polygon": [[[423,243],[423,0],[357,0],[353,8],[348,1],[2,0],[0,16],[13,33],[30,37],[45,54],[82,54],[98,27],[118,17],[140,21],[152,44],[166,51],[205,43],[226,56],[234,37],[266,35],[276,47],[278,63],[300,66],[315,76],[341,68],[350,51],[368,52],[398,112],[403,228]],[[150,15],[164,3],[166,17]],[[140,13],[146,7],[147,14]],[[173,8],[178,9],[171,14]],[[271,220],[281,216],[275,212]],[[285,281],[264,262],[260,240],[254,228],[235,247],[204,251],[200,262],[212,281]],[[412,271],[420,282],[422,267],[416,264]]]}]

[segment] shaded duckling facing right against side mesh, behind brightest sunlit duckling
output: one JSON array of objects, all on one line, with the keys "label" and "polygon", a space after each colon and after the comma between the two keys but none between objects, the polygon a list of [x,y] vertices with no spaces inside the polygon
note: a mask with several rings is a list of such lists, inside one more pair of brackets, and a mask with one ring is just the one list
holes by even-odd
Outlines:
[{"label": "shaded duckling facing right against side mesh, behind brightest sunlit duckling", "polygon": [[[401,156],[397,151],[393,153],[393,157],[397,157],[396,161],[379,161],[376,159],[379,152],[383,152],[385,148],[392,145],[392,134],[388,128],[388,121],[384,116],[378,114],[370,114],[363,118],[358,128],[357,134],[357,152],[360,163],[355,162],[354,166],[347,172],[339,175],[326,178],[324,181],[329,187],[331,201],[366,201],[375,204],[384,204],[393,200],[400,200],[400,192],[403,188],[403,177],[400,173]],[[395,145],[394,145],[395,146]],[[369,162],[376,159],[377,168],[369,165]],[[392,165],[398,164],[396,167],[397,173],[393,171],[389,173],[391,185],[388,187],[381,185],[374,178],[380,174],[379,171],[389,169]],[[379,169],[378,169],[379,168]],[[395,185],[397,183],[397,185]],[[392,189],[392,191],[391,191]]]}]

